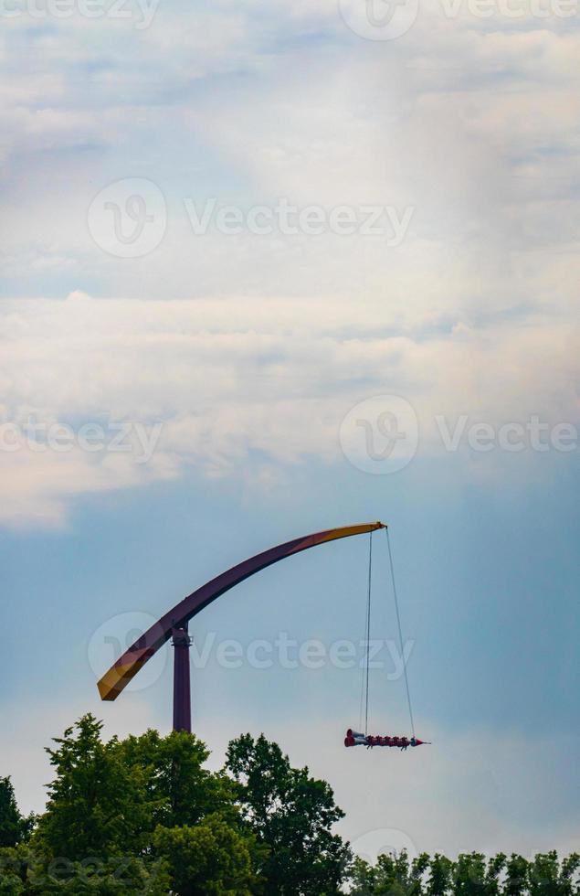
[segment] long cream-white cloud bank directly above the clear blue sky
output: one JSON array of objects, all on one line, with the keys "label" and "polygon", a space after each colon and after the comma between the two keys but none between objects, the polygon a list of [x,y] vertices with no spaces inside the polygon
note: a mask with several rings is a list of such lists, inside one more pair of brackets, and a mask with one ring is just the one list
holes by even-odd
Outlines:
[{"label": "long cream-white cloud bank directly above the clear blue sky", "polygon": [[[415,408],[424,457],[441,451],[438,414],[450,428],[462,414],[493,425],[533,414],[552,425],[578,421],[580,355],[565,322],[540,315],[475,329],[458,317],[426,336],[429,309],[403,325],[396,307],[377,300],[104,301],[75,291],[67,301],[5,302],[3,312],[3,421],[163,423],[142,464],[134,434],[132,453],[8,446],[0,486],[8,524],[64,520],[78,496],[191,465],[209,476],[256,475],[253,452],[269,476],[271,464],[337,462],[344,415],[385,392]],[[378,335],[391,329],[402,334]]]}]

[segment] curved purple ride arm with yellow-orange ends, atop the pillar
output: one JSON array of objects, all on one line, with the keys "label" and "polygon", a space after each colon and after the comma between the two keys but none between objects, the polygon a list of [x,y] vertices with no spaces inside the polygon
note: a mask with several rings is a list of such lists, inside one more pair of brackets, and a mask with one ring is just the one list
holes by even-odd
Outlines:
[{"label": "curved purple ride arm with yellow-orange ends, atop the pillar", "polygon": [[385,523],[362,523],[359,526],[326,529],[324,532],[316,532],[314,535],[307,535],[302,539],[287,541],[286,544],[278,545],[276,548],[264,550],[256,557],[244,560],[243,563],[238,563],[231,570],[222,572],[221,575],[216,576],[216,579],[206,582],[197,591],[177,603],[173,610],[165,613],[119,657],[98,682],[100,698],[103,700],[116,699],[147,660],[151,659],[153,654],[169,640],[174,629],[184,628],[196,613],[200,613],[208,603],[215,601],[220,594],[229,591],[238,582],[248,579],[255,572],[264,570],[278,560],[298,554],[301,550],[313,548],[326,541],[345,539],[351,535],[362,535],[364,532],[374,532],[379,528],[386,528]]}]

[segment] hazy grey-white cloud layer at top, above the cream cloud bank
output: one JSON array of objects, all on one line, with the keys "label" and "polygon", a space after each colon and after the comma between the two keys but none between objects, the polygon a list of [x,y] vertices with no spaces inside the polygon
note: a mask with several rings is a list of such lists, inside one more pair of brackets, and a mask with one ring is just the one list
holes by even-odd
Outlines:
[{"label": "hazy grey-white cloud layer at top, above the cream cloud bank", "polygon": [[[130,21],[51,22],[34,76],[7,44],[6,272],[31,294],[47,283],[62,294],[74,275],[88,291],[137,298],[232,294],[240,283],[305,296],[315,284],[401,304],[421,294],[439,309],[459,296],[491,310],[535,304],[533,278],[514,265],[524,271],[541,252],[554,279],[561,253],[571,265],[577,255],[580,32],[554,16],[516,26],[434,7],[378,46],[330,2],[163,4],[138,39]],[[132,176],[158,183],[170,225],[157,251],[128,265],[91,242],[86,216],[101,187]],[[356,238],[195,240],[183,199],[207,195],[245,208],[285,196],[416,211],[400,251]],[[567,284],[555,297],[572,300]]]}]

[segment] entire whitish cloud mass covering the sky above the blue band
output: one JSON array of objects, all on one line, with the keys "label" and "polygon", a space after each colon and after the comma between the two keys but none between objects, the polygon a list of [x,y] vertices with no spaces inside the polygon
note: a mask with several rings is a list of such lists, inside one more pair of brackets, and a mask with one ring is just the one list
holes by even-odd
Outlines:
[{"label": "entire whitish cloud mass covering the sky above the blue band", "polygon": [[[321,0],[170,3],[134,24],[8,23],[5,274],[14,294],[70,296],[5,301],[0,387],[7,420],[160,420],[162,438],[138,470],[122,455],[4,454],[5,522],[62,521],[78,496],[192,465],[269,481],[332,463],[344,414],[385,392],[415,407],[427,455],[435,414],[578,420],[575,22],[467,5],[449,19],[434,0],[382,44]],[[93,197],[124,177],[167,203],[142,258],[107,254],[87,227]],[[397,248],[195,237],[184,199],[212,196],[414,211]],[[249,472],[252,453],[266,472]]]}]

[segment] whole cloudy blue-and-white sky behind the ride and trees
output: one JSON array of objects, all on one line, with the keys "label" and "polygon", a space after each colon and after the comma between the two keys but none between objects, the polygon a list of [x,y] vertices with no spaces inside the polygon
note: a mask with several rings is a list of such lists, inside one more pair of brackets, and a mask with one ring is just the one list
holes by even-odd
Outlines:
[{"label": "whole cloudy blue-and-white sky behind the ride and trees", "polygon": [[[0,16],[0,774],[22,808],[83,712],[169,730],[169,646],[100,703],[135,632],[262,549],[382,519],[432,745],[343,747],[359,537],[195,618],[211,763],[264,731],[371,858],[578,848],[577,2]],[[409,733],[383,533],[373,555],[370,729]]]}]

